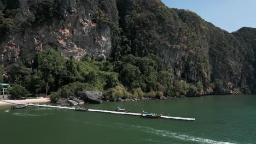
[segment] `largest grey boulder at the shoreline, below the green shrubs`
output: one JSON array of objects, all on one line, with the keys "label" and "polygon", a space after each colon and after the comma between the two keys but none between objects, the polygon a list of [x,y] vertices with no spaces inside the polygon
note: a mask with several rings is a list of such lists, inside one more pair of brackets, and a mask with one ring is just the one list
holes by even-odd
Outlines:
[{"label": "largest grey boulder at the shoreline, below the green shrubs", "polygon": [[97,91],[86,91],[81,94],[81,98],[86,103],[92,103],[92,104],[101,104],[102,100],[102,93]]}]

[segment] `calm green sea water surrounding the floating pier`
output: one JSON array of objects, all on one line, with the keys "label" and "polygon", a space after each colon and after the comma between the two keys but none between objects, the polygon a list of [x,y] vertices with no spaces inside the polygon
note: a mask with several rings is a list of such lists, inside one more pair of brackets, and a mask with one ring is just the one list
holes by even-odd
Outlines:
[{"label": "calm green sea water surrounding the floating pier", "polygon": [[[111,113],[0,106],[0,143],[256,143],[256,95],[209,95],[175,100],[105,102],[91,109],[161,113],[196,121]],[[9,109],[9,112],[5,110]]]}]

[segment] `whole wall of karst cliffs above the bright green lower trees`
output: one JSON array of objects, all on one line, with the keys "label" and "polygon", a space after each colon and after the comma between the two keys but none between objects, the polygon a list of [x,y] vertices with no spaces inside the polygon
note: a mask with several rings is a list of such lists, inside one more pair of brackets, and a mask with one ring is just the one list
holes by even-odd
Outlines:
[{"label": "whole wall of karst cliffs above the bright green lower trees", "polygon": [[[2,3],[9,9],[4,12],[7,28],[0,29],[0,63],[5,70],[18,61],[32,65],[36,52],[54,47],[75,59],[88,55],[115,61],[116,56],[153,53],[173,71],[175,80],[201,81],[204,87],[216,79],[234,87],[256,83],[253,28],[229,33],[192,11],[170,9],[159,0]],[[126,45],[129,50],[122,52],[120,47]]]}]

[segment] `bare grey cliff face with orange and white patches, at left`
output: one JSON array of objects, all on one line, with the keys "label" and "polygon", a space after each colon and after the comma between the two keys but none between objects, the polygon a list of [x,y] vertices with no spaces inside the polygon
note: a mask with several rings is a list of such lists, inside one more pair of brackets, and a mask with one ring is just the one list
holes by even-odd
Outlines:
[{"label": "bare grey cliff face with orange and white patches, at left", "polygon": [[113,22],[117,21],[115,1],[45,2],[18,1],[19,7],[15,9],[14,17],[16,23],[1,41],[1,64],[7,67],[22,56],[32,63],[34,53],[48,47],[55,47],[62,55],[77,59],[85,55],[96,59],[109,57],[111,28],[97,22],[102,15],[107,15]]}]

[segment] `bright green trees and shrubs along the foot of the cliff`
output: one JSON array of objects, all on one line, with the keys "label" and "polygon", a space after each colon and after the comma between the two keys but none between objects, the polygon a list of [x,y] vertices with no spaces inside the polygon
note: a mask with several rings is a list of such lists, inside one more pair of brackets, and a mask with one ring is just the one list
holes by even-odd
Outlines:
[{"label": "bright green trees and shrubs along the foot of the cliff", "polygon": [[[30,93],[53,94],[53,101],[71,95],[79,97],[85,90],[101,91],[105,99],[203,94],[201,83],[173,82],[173,71],[166,70],[153,54],[127,55],[117,62],[83,59],[66,59],[54,49],[43,50],[37,53],[32,68],[18,63],[5,81]],[[191,87],[195,88],[194,92]]]}]

